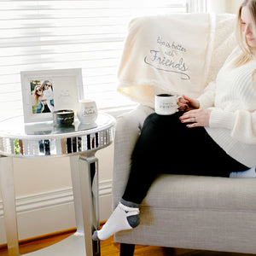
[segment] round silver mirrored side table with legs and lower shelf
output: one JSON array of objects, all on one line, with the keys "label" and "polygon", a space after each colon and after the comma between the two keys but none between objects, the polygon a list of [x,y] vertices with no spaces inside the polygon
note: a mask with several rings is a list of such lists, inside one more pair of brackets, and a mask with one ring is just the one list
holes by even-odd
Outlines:
[{"label": "round silver mirrored side table with legs and lower shelf", "polygon": [[99,228],[98,160],[96,151],[113,143],[115,119],[99,113],[96,123],[75,121],[68,127],[52,122],[24,124],[23,117],[0,122],[0,188],[10,256],[20,255],[13,158],[69,156],[77,232],[53,246],[26,255],[100,255],[100,242],[91,235]]}]

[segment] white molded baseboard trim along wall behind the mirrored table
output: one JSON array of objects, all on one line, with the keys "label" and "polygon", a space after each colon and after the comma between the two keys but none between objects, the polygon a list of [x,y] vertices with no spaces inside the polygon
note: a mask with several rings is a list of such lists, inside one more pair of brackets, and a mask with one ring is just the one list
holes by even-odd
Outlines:
[{"label": "white molded baseboard trim along wall behind the mirrored table", "polygon": [[[99,183],[99,203],[100,220],[104,221],[111,213],[111,180]],[[72,188],[17,197],[16,209],[20,240],[69,230],[76,226]],[[0,201],[0,230],[4,230],[2,201]],[[0,236],[0,244],[4,243],[6,243],[5,234]]]}]

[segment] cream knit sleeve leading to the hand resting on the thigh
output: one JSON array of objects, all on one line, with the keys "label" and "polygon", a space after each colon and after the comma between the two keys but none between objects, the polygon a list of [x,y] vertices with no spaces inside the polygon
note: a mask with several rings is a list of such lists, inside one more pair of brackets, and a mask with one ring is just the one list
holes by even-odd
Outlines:
[{"label": "cream knit sleeve leading to the hand resting on the thigh", "polygon": [[237,141],[256,144],[256,111],[237,110],[232,113],[212,108],[209,126],[230,129],[231,137]]}]

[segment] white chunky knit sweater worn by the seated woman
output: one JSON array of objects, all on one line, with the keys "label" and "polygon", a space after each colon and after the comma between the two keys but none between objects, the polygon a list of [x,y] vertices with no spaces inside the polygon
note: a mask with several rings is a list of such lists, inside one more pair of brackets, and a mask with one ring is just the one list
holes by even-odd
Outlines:
[{"label": "white chunky knit sweater worn by the seated woman", "polygon": [[256,166],[256,90],[252,86],[256,60],[230,67],[239,52],[238,48],[232,52],[216,82],[198,100],[201,108],[212,109],[206,127],[212,139],[231,157],[252,167]]}]

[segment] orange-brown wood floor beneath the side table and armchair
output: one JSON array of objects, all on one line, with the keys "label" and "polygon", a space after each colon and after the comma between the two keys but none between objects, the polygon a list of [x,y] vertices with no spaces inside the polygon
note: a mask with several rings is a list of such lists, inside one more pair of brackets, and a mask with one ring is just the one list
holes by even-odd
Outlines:
[{"label": "orange-brown wood floor beneath the side table and armchair", "polygon": [[[38,249],[48,247],[67,236],[71,236],[74,230],[66,230],[49,236],[42,236],[32,241],[21,241],[20,253],[32,253]],[[102,256],[119,256],[119,244],[113,241],[113,236],[101,242]],[[134,256],[252,256],[256,254],[245,253],[219,253],[211,251],[199,251],[189,249],[174,249],[165,247],[136,246]],[[0,246],[0,256],[8,256],[7,248]]]}]

